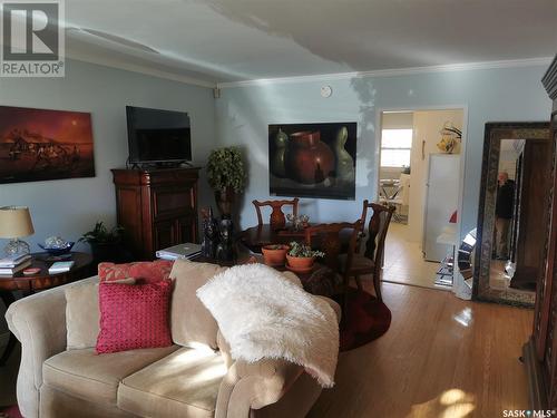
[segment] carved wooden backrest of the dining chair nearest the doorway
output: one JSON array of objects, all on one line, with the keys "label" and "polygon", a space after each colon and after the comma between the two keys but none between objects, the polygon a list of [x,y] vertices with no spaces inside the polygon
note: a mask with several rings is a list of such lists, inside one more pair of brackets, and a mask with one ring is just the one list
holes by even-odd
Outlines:
[{"label": "carved wooden backrest of the dining chair nearest the doorway", "polygon": [[368,224],[368,240],[365,241],[363,255],[373,260],[375,265],[380,266],[383,264],[384,240],[395,207],[369,203],[368,200],[363,201],[362,217],[360,218],[362,227],[365,225],[365,217],[368,216],[368,208],[370,207],[373,214]]}]

